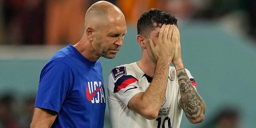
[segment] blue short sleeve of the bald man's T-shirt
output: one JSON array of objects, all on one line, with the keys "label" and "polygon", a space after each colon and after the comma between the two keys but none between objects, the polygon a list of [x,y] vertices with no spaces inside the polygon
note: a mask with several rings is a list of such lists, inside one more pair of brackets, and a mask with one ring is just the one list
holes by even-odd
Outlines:
[{"label": "blue short sleeve of the bald man's T-shirt", "polygon": [[41,71],[35,107],[59,112],[72,85],[72,72],[64,62],[46,64]]}]

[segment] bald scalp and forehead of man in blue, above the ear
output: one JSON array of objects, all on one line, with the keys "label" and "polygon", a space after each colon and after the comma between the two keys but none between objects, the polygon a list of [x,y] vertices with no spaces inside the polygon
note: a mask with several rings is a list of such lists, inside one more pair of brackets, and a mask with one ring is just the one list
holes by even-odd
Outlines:
[{"label": "bald scalp and forehead of man in blue, above the ear", "polygon": [[84,26],[95,26],[111,20],[124,19],[122,11],[114,4],[107,1],[99,1],[86,11]]}]

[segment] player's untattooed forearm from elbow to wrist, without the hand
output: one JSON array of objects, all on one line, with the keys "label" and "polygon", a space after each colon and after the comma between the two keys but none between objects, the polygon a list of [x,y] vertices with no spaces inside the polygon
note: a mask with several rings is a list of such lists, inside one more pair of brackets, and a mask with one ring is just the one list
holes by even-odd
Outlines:
[{"label": "player's untattooed forearm from elbow to wrist, without the hand", "polygon": [[164,102],[168,71],[170,67],[168,59],[159,59],[154,78],[146,90],[134,95],[128,102],[128,108],[134,110],[145,118],[152,120],[158,116],[158,112]]}]

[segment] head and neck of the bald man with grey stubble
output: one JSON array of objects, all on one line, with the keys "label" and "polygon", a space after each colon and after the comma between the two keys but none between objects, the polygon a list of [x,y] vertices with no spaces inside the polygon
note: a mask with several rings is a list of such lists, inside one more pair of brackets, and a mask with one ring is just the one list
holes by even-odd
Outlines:
[{"label": "head and neck of the bald man with grey stubble", "polygon": [[127,32],[124,14],[114,4],[99,1],[86,11],[84,34],[74,46],[88,60],[114,58]]}]

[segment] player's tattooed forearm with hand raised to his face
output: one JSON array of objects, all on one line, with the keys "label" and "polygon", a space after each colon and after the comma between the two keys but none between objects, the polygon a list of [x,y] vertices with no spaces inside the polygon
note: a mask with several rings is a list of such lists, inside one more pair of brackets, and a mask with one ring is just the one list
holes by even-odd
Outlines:
[{"label": "player's tattooed forearm with hand raised to his face", "polygon": [[205,103],[200,97],[197,91],[194,89],[190,82],[188,75],[184,69],[184,64],[181,59],[181,48],[180,48],[180,33],[177,27],[176,30],[176,42],[175,42],[175,53],[172,63],[174,64],[177,72],[177,77],[180,86],[179,104],[184,110],[186,117],[190,123],[196,124],[204,120]]}]

